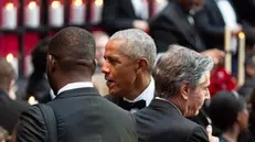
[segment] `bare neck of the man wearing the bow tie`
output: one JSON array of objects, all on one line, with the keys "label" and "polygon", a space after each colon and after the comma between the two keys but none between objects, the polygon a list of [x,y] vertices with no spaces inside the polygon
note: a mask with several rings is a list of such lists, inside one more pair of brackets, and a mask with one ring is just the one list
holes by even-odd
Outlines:
[{"label": "bare neck of the man wearing the bow tie", "polygon": [[137,77],[137,80],[134,84],[134,90],[130,94],[127,94],[125,98],[129,100],[136,99],[149,85],[150,75],[141,75],[140,77]]}]

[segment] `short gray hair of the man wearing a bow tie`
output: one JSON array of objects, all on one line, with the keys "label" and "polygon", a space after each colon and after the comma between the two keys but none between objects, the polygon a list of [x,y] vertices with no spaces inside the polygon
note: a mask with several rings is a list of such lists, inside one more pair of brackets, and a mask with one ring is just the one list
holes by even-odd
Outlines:
[{"label": "short gray hair of the man wearing a bow tie", "polygon": [[153,40],[144,31],[138,29],[129,29],[116,32],[110,36],[113,40],[126,40],[130,46],[125,46],[125,55],[132,58],[145,57],[148,61],[149,72],[152,70],[157,50]]}]

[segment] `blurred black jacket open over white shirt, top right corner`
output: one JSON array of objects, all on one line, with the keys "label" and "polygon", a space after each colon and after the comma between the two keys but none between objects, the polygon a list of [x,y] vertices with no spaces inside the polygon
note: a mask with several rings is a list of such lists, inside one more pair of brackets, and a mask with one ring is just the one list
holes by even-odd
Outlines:
[{"label": "blurred black jacket open over white shirt, top right corner", "polygon": [[[229,0],[235,11],[235,7],[232,1]],[[235,12],[237,22],[243,26],[243,31],[246,34],[247,43],[255,43],[255,29],[248,25],[246,22],[238,19],[238,13]],[[204,7],[201,11],[194,15],[195,25],[206,46],[222,48],[224,47],[224,28],[225,22],[220,9],[214,0],[204,0]]]}]

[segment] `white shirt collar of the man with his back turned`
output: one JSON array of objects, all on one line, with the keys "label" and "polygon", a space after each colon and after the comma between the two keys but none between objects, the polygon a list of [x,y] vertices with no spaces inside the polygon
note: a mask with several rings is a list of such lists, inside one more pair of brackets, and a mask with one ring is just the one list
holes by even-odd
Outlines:
[{"label": "white shirt collar of the man with his back turned", "polygon": [[63,91],[71,90],[71,89],[77,89],[77,88],[86,88],[86,87],[94,87],[91,81],[77,81],[77,83],[71,83],[62,87],[57,95],[60,95]]}]

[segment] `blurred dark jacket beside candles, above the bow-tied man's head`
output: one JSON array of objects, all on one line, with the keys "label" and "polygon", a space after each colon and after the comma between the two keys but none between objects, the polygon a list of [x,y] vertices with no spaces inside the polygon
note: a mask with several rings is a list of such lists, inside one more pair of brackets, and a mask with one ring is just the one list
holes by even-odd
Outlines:
[{"label": "blurred dark jacket beside candles, above the bow-tied man's head", "polygon": [[141,19],[136,15],[131,0],[104,0],[102,14],[103,25],[110,35],[132,28],[132,21]]}]

